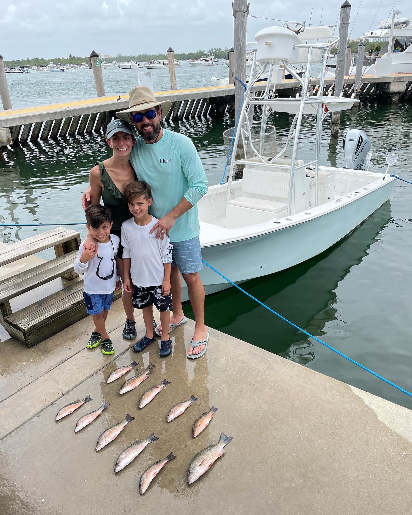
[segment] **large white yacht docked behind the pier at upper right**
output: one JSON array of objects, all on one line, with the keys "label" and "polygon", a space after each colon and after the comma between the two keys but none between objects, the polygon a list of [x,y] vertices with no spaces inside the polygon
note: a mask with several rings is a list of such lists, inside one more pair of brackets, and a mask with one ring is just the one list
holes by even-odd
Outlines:
[{"label": "large white yacht docked behind the pier at upper right", "polygon": [[[389,74],[412,73],[412,24],[409,18],[395,18],[393,24],[393,51],[390,52],[389,39],[391,35],[391,20],[383,20],[375,30],[365,32],[360,38],[365,41],[387,41],[379,50],[379,55],[374,62],[365,64],[362,68],[362,75],[375,75],[376,66],[379,66],[378,75],[382,75],[384,65]],[[389,58],[389,60],[387,59]],[[381,61],[381,59],[383,59]],[[350,75],[355,75],[355,66],[351,67]]]}]

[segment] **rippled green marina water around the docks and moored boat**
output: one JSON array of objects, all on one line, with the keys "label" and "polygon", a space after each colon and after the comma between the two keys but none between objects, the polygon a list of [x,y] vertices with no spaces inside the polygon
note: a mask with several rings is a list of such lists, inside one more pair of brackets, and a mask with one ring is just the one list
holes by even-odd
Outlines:
[{"label": "rippled green marina water around the docks and moored boat", "polygon": [[[213,67],[213,71],[195,68],[189,74],[188,71],[185,73],[185,64],[188,66],[183,63],[177,68],[180,88],[208,85],[212,75],[227,76],[224,65]],[[136,83],[135,72],[104,70],[106,93],[128,92]],[[156,75],[160,74],[164,77],[156,78],[153,73],[158,91],[168,87],[167,70],[156,71]],[[82,77],[81,88],[78,87],[79,77]],[[88,70],[9,75],[13,107],[33,105],[33,83],[37,81],[37,104],[95,95],[92,73]],[[284,113],[272,114],[269,118],[269,123],[277,128],[278,147],[286,137],[290,122],[291,116]],[[233,123],[233,114],[226,114],[222,119],[196,118],[179,124],[168,123],[165,127],[190,136],[201,157],[209,185],[212,185],[220,182],[226,162],[222,132],[233,127]],[[344,165],[341,139],[349,128],[359,128],[365,130],[372,141],[373,167],[384,171],[386,154],[398,153],[399,160],[389,173],[412,180],[411,104],[371,103],[342,112],[338,141],[329,140],[330,117],[323,127],[322,164]],[[307,120],[301,134],[300,159],[315,144],[313,125]],[[64,225],[82,221],[80,198],[88,183],[89,170],[98,159],[109,156],[108,150],[102,134],[74,135],[29,143],[24,147],[5,147],[3,157],[0,153],[0,223],[61,222]],[[389,202],[344,241],[316,258],[242,285],[251,295],[309,333],[408,391],[412,391],[411,188],[397,181]],[[74,228],[84,237],[84,226]],[[48,228],[0,229],[1,241],[10,243]],[[313,238],[316,237],[313,234]],[[41,255],[51,259],[53,250]],[[242,255],[237,259],[242,260]],[[185,313],[193,317],[190,306],[185,307]],[[316,341],[311,342],[235,288],[207,298],[205,322],[253,345],[412,408],[412,399],[404,393]]]}]

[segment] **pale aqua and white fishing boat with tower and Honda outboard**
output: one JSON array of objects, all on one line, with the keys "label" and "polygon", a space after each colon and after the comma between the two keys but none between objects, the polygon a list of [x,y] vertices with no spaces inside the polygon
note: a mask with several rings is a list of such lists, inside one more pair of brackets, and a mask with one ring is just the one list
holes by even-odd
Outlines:
[{"label": "pale aqua and white fishing boat with tower and Honda outboard", "polygon": [[[269,27],[255,39],[254,60],[263,66],[245,92],[228,180],[210,186],[198,203],[202,258],[235,283],[284,270],[327,250],[386,202],[394,182],[389,175],[369,169],[370,141],[356,129],[348,132],[344,143],[348,168],[320,165],[323,119],[329,112],[350,109],[358,102],[319,93],[323,91],[326,54],[338,41],[332,30],[311,27],[298,36],[284,27]],[[310,69],[314,62],[321,64],[323,74],[317,96],[309,96],[310,76],[300,78],[290,64],[305,63]],[[300,96],[275,98],[270,75],[278,64],[284,64],[298,80]],[[265,70],[269,72],[266,90],[263,97],[255,98],[251,90]],[[251,123],[248,111],[254,106],[261,109],[254,114],[259,118]],[[269,111],[296,113],[280,151],[276,140],[265,136],[274,129],[267,124]],[[306,161],[297,155],[304,114],[307,121],[313,117],[316,127],[314,155]],[[243,178],[232,180],[235,168],[242,166]],[[205,265],[201,278],[207,294],[230,287]],[[183,299],[187,298],[185,288]]]}]

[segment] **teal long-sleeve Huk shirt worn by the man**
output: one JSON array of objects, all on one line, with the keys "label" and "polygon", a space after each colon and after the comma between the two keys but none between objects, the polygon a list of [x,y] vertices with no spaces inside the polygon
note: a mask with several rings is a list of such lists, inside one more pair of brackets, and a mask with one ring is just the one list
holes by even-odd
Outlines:
[{"label": "teal long-sleeve Huk shirt worn by the man", "polygon": [[163,129],[162,138],[147,144],[141,136],[130,154],[138,179],[150,185],[151,215],[162,218],[184,197],[193,208],[176,219],[170,242],[185,242],[199,235],[197,203],[208,191],[208,180],[192,141],[178,132]]}]

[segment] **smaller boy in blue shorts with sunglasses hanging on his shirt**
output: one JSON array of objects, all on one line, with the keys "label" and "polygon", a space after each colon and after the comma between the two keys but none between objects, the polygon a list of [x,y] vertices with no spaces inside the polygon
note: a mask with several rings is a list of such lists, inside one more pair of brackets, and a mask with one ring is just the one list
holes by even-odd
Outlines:
[{"label": "smaller boy in blue shorts with sunglasses hanging on his shirt", "polygon": [[112,214],[100,204],[89,205],[85,211],[86,227],[97,240],[97,254],[94,246],[81,243],[73,268],[83,274],[83,298],[86,311],[93,315],[94,331],[86,347],[92,349],[101,344],[103,354],[113,354],[114,349],[105,321],[113,302],[114,290],[122,284],[116,270],[116,254],[120,239],[110,235]]}]

